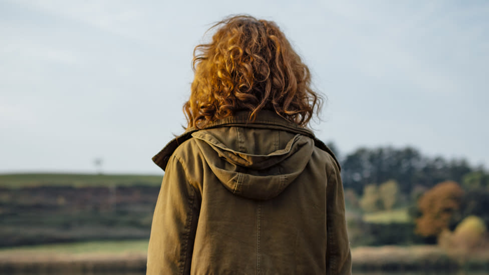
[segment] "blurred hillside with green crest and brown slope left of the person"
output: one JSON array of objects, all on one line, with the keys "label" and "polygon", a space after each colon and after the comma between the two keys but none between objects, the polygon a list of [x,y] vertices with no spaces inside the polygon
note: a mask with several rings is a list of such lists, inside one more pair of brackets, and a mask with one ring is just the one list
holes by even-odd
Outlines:
[{"label": "blurred hillside with green crest and brown slope left of the person", "polygon": [[0,175],[0,247],[147,239],[162,176]]}]

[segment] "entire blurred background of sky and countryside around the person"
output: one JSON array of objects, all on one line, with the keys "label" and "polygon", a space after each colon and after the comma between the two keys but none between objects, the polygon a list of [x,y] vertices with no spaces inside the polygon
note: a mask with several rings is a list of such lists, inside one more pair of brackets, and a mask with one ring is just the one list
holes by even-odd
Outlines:
[{"label": "entire blurred background of sky and countryside around the person", "polygon": [[[489,3],[0,0],[0,273],[143,274],[193,48],[273,20],[327,101],[356,274],[489,271]],[[381,273],[382,272],[382,273]]]}]

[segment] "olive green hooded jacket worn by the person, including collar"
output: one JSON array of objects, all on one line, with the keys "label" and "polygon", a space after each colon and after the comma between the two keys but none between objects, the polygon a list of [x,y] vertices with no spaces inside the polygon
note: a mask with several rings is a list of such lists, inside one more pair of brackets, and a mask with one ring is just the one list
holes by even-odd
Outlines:
[{"label": "olive green hooded jacket worn by the person, including collar", "polygon": [[165,170],[147,274],[351,274],[340,166],[312,132],[262,111],[190,129]]}]

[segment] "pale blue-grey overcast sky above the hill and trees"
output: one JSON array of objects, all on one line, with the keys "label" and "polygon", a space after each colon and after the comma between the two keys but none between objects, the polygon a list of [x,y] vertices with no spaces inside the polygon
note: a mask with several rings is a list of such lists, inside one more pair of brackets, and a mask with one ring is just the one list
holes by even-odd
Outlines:
[{"label": "pale blue-grey overcast sky above the hill and trees", "polygon": [[[162,171],[193,48],[230,14],[276,21],[328,97],[342,153],[414,146],[489,164],[487,1],[0,0],[0,173]],[[208,37],[207,37],[208,38]]]}]

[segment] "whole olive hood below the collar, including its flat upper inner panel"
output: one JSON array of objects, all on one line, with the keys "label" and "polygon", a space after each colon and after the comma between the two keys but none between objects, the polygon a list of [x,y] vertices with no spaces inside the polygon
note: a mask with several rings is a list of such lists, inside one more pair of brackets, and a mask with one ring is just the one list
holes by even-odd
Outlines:
[{"label": "whole olive hood below the collar, including its flat upper inner panel", "polygon": [[281,138],[288,140],[278,142],[279,135],[277,130],[245,132],[228,127],[194,132],[192,137],[212,172],[230,192],[266,200],[279,195],[301,174],[314,150],[314,141],[307,136],[282,133]]}]

